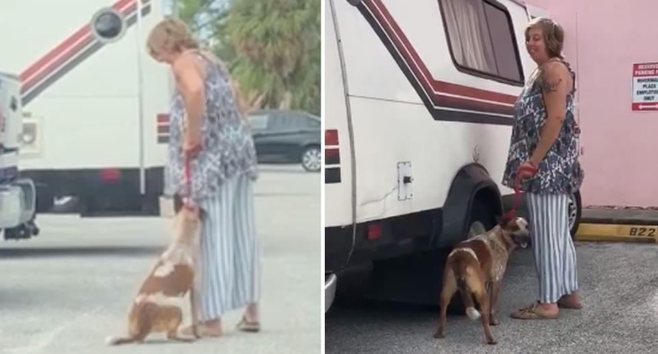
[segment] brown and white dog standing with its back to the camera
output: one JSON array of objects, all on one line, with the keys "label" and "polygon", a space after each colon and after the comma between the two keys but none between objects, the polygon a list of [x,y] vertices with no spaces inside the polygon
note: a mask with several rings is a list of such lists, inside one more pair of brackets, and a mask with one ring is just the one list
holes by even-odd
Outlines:
[{"label": "brown and white dog standing with its back to the camera", "polygon": [[[456,244],[443,270],[441,315],[434,337],[443,338],[448,304],[459,290],[467,316],[472,320],[481,318],[487,343],[496,344],[489,325],[498,325],[496,302],[507,260],[517,246],[526,248],[529,243],[526,219],[505,217],[493,229]],[[475,309],[473,298],[480,305],[481,314]]]}]

